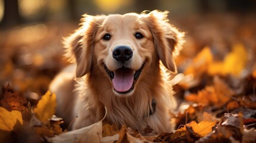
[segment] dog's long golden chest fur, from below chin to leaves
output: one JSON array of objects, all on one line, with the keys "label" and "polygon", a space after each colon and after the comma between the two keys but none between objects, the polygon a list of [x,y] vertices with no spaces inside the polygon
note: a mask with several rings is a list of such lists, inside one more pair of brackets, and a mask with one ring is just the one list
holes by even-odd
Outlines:
[{"label": "dog's long golden chest fur, from below chin to leaves", "polygon": [[[107,109],[107,117],[104,122],[113,123],[119,127],[127,125],[132,129],[138,130],[143,130],[146,128],[147,124],[159,132],[172,130],[171,124],[164,125],[163,123],[169,123],[170,120],[168,114],[169,107],[166,107],[166,105],[174,106],[175,101],[171,99],[171,86],[162,81],[164,80],[162,78],[163,77],[159,74],[158,80],[161,80],[161,82],[153,82],[153,88],[147,87],[152,87],[152,82],[146,83],[145,81],[141,81],[140,85],[137,85],[137,92],[134,92],[134,94],[129,97],[122,98],[117,97],[113,93],[112,88],[108,86],[94,86],[94,83],[91,82],[92,79],[90,79],[90,75],[85,76],[79,83],[79,92],[81,93],[79,95],[81,95],[81,97],[77,100],[79,107],[78,119],[76,119],[84,120],[84,122],[83,125],[81,125],[81,122],[79,122],[79,125],[76,125],[75,122],[73,128],[78,129],[101,120],[104,116],[105,106]],[[103,85],[106,84],[103,83]],[[97,89],[95,87],[101,88]],[[97,95],[97,97],[92,95]],[[152,107],[152,101],[158,104]],[[80,104],[81,102],[86,104]],[[153,110],[153,108],[155,108],[155,110]]]}]

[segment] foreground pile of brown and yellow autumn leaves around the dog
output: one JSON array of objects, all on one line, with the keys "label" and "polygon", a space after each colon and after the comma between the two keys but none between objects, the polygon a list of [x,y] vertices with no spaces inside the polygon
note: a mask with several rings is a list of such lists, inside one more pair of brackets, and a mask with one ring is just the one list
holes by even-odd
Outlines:
[{"label": "foreground pile of brown and yellow autumn leaves around the dog", "polygon": [[[178,125],[172,133],[157,133],[150,126],[143,132],[125,125],[117,129],[115,125],[103,125],[103,119],[86,128],[67,131],[60,127],[63,120],[54,116],[55,94],[47,92],[32,108],[26,98],[11,92],[8,84],[0,107],[1,141],[255,142],[256,70],[241,78],[248,62],[244,57],[245,48],[235,46],[223,61],[216,63],[206,47],[193,58],[184,73],[174,77],[175,96],[182,104],[172,115]],[[238,69],[225,70],[225,64]],[[202,82],[202,78],[209,83]]]}]

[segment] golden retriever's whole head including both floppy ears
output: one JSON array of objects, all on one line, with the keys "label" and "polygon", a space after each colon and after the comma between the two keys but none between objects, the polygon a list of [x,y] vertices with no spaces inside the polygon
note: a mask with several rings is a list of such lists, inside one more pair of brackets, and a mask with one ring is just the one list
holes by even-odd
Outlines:
[{"label": "golden retriever's whole head including both floppy ears", "polygon": [[[84,15],[81,27],[65,40],[67,57],[76,62],[76,77],[93,72],[109,76],[116,95],[131,95],[146,70],[159,60],[176,72],[173,60],[183,33],[168,23],[168,12]],[[97,76],[97,75],[95,75]],[[150,76],[150,75],[149,75]]]}]

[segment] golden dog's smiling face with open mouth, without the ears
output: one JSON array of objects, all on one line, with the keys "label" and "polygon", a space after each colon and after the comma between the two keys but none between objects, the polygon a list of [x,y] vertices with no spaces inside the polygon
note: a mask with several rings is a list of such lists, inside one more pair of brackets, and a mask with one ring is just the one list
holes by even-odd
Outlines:
[{"label": "golden dog's smiling face with open mouth, without the ears", "polygon": [[146,63],[156,58],[152,33],[135,14],[109,15],[95,35],[95,59],[116,95],[130,95]]}]

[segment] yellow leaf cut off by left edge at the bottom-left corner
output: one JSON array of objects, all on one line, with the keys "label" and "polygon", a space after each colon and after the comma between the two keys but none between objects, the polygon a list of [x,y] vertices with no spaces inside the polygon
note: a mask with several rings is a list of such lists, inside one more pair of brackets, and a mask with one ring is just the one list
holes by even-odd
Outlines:
[{"label": "yellow leaf cut off by left edge at the bottom-left corner", "polygon": [[0,141],[10,141],[11,132],[21,128],[22,125],[23,119],[20,111],[8,111],[0,107]]}]

